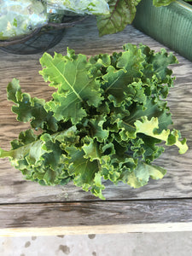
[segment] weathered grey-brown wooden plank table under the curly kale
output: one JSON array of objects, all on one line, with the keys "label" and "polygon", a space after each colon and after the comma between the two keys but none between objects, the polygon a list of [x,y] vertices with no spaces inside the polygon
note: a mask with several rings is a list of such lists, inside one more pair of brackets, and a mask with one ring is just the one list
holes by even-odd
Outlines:
[{"label": "weathered grey-brown wooden plank table under the curly kale", "polygon": [[[148,44],[154,50],[163,46],[127,26],[124,32],[98,37],[92,17],[69,28],[54,51],[66,54],[67,46],[76,53],[95,55],[121,50],[125,43]],[[167,49],[170,52],[170,49]],[[177,55],[177,54],[176,54]],[[38,75],[38,55],[12,55],[0,50],[0,145],[9,142],[28,127],[15,120],[6,87],[13,78],[20,79],[24,91],[49,100],[52,89]],[[172,147],[155,162],[167,169],[166,177],[150,181],[141,189],[106,182],[106,201],[76,188],[44,187],[23,179],[20,171],[0,160],[0,235],[63,235],[89,233],[125,233],[143,231],[192,230],[192,63],[177,55],[172,67],[177,77],[168,96],[175,128],[187,137],[189,151],[179,155]]]}]

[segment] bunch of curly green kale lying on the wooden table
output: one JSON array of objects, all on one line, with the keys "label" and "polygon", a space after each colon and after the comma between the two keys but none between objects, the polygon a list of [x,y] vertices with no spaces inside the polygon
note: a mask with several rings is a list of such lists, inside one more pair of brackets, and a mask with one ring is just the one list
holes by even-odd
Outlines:
[{"label": "bunch of curly green kale lying on the wooden table", "polygon": [[7,88],[12,111],[32,129],[21,131],[9,151],[0,148],[0,157],[9,157],[26,179],[73,181],[104,199],[103,179],[139,188],[164,177],[166,170],[152,164],[165,150],[162,142],[187,151],[180,132],[168,129],[165,99],[174,78],[167,66],[177,59],[165,49],[125,44],[123,52],[89,60],[67,49],[67,55],[44,53],[40,63],[40,74],[56,89],[49,102],[22,93],[17,79]]}]

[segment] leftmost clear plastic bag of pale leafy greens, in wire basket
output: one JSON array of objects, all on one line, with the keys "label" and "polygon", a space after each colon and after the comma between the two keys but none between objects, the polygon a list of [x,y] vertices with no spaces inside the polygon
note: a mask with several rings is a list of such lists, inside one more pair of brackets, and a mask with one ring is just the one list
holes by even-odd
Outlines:
[{"label": "leftmost clear plastic bag of pale leafy greens, in wire basket", "polygon": [[0,39],[32,32],[47,22],[46,5],[37,0],[0,1]]}]

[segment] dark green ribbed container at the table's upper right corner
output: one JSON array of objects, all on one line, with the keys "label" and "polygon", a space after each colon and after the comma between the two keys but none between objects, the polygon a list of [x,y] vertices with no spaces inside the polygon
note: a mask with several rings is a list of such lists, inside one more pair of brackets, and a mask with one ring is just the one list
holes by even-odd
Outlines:
[{"label": "dark green ribbed container at the table's upper right corner", "polygon": [[191,4],[177,0],[168,6],[154,7],[152,0],[143,0],[137,6],[133,25],[192,61]]}]

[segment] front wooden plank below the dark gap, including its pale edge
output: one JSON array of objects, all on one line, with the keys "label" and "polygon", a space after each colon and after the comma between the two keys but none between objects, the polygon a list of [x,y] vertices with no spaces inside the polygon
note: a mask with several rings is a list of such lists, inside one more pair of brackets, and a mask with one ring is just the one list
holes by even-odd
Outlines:
[{"label": "front wooden plank below the dark gap, including its pale edge", "polygon": [[42,234],[46,229],[49,236],[55,230],[62,235],[108,233],[112,230],[120,233],[149,232],[154,227],[155,231],[158,227],[160,231],[177,227],[192,230],[191,211],[191,199],[2,205],[0,235],[25,234],[27,229],[38,236],[38,231]]}]

